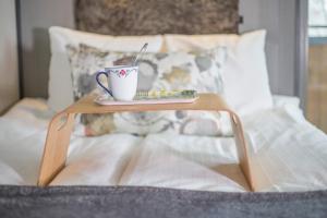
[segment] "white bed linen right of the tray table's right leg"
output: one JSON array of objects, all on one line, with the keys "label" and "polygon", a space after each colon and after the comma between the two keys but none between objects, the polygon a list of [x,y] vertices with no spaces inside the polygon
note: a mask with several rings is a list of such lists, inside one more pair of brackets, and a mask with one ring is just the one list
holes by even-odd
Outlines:
[{"label": "white bed linen right of the tray table's right leg", "polygon": [[298,108],[284,106],[242,120],[258,190],[326,189],[327,136]]}]

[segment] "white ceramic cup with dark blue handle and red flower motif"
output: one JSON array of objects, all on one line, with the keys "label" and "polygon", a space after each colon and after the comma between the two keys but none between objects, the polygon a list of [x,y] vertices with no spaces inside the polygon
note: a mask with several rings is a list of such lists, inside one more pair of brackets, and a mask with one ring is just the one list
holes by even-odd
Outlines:
[{"label": "white ceramic cup with dark blue handle and red flower motif", "polygon": [[[101,84],[99,76],[107,76],[108,88]],[[116,65],[98,71],[97,83],[116,100],[133,100],[137,89],[137,65]]]}]

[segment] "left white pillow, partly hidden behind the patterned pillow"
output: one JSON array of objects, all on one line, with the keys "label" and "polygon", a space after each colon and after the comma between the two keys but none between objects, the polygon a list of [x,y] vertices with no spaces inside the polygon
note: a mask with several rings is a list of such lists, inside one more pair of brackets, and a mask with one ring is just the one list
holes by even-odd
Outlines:
[{"label": "left white pillow, partly hidden behind the patterned pillow", "polygon": [[158,36],[108,36],[73,31],[52,26],[49,29],[51,43],[51,61],[49,76],[48,104],[52,110],[62,110],[74,100],[71,70],[65,51],[66,45],[85,44],[96,48],[113,51],[138,51],[144,43],[148,43],[147,50],[158,52],[162,46],[162,37]]}]

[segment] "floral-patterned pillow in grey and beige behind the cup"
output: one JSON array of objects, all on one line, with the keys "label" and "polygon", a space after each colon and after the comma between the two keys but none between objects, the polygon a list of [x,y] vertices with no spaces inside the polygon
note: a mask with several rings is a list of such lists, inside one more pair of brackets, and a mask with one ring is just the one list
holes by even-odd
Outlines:
[{"label": "floral-patterned pillow in grey and beige behind the cup", "polygon": [[[135,53],[99,50],[86,45],[68,46],[74,97],[77,100],[96,89],[95,73],[105,66],[128,63]],[[226,49],[217,47],[196,52],[145,53],[140,61],[138,89],[196,89],[222,93],[221,68]],[[83,114],[83,133],[175,132],[195,135],[221,135],[220,114],[209,111],[149,111]]]}]

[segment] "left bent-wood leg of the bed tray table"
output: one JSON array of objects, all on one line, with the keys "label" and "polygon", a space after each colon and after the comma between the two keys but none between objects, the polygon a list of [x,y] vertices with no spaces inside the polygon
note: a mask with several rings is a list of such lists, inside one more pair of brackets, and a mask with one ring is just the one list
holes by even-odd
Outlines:
[{"label": "left bent-wood leg of the bed tray table", "polygon": [[74,113],[58,113],[50,122],[37,184],[46,186],[65,165]]}]

